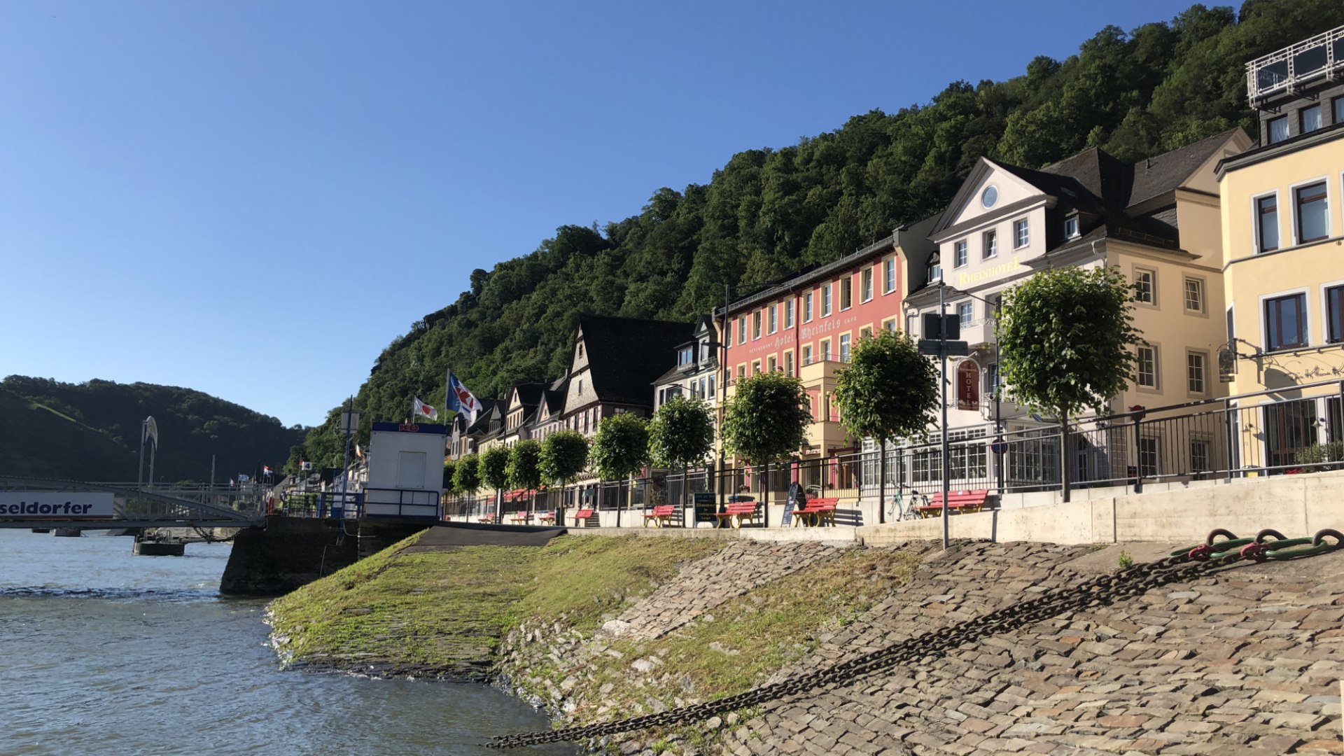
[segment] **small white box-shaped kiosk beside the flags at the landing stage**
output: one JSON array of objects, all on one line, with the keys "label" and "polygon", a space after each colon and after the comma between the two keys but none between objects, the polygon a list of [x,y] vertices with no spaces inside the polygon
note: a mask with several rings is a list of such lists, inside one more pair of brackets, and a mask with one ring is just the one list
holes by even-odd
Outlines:
[{"label": "small white box-shaped kiosk beside the flags at the landing stage", "polygon": [[448,426],[375,422],[368,444],[368,517],[438,519]]}]

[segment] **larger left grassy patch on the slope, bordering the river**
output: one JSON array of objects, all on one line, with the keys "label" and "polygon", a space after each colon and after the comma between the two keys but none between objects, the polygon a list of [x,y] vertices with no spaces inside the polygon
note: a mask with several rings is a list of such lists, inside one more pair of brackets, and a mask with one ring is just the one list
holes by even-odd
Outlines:
[{"label": "larger left grassy patch on the slope, bordering the river", "polygon": [[520,617],[591,630],[628,596],[727,543],[559,537],[543,547],[398,554],[415,538],[277,599],[281,652],[339,669],[480,675]]}]

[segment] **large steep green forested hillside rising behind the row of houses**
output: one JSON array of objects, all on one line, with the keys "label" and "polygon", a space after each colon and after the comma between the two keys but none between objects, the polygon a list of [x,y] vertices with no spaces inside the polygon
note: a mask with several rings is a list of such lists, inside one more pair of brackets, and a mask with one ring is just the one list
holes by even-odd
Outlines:
[{"label": "large steep green forested hillside rising behind the row of houses", "polygon": [[[579,312],[691,320],[722,303],[726,282],[853,252],[942,209],[980,156],[1035,168],[1090,147],[1138,160],[1238,125],[1255,136],[1245,63],[1341,23],[1344,0],[1247,0],[1107,27],[1066,61],[1040,56],[1008,81],[953,82],[925,105],[747,149],[707,184],[655,191],[636,217],[563,226],[473,270],[470,291],[383,350],[356,398],[364,434],[371,420],[406,416],[414,394],[441,398],[449,366],[478,395],[562,374]],[[309,434],[309,459],[339,464],[336,412]]]}]

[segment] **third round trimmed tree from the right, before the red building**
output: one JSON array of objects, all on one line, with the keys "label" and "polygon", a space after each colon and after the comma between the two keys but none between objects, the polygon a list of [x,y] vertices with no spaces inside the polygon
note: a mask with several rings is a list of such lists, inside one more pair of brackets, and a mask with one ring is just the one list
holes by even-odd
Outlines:
[{"label": "third round trimmed tree from the right, before the red building", "polygon": [[[802,382],[784,373],[759,373],[738,381],[723,414],[723,443],[751,465],[785,461],[806,443],[812,409]],[[765,525],[770,525],[769,508]]]}]

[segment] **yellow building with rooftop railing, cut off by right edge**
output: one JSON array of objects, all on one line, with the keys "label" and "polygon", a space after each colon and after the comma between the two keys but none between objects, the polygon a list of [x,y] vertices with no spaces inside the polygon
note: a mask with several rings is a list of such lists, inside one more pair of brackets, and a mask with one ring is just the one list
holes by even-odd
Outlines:
[{"label": "yellow building with rooftop railing, cut off by right edge", "polygon": [[1258,394],[1238,400],[1239,469],[1344,441],[1344,61],[1327,55],[1341,43],[1344,27],[1247,63],[1261,144],[1218,167],[1235,344],[1220,367],[1232,394]]}]

